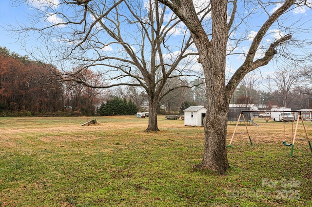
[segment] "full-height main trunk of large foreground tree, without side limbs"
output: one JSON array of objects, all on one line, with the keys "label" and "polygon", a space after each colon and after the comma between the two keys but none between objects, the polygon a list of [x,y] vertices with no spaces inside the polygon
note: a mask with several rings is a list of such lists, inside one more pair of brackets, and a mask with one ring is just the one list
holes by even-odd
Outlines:
[{"label": "full-height main trunk of large foreground tree, without side limbs", "polygon": [[226,134],[231,98],[225,85],[227,0],[212,1],[212,11],[212,40],[209,42],[204,32],[193,35],[205,74],[207,97],[204,155],[198,167],[223,174],[229,168]]}]

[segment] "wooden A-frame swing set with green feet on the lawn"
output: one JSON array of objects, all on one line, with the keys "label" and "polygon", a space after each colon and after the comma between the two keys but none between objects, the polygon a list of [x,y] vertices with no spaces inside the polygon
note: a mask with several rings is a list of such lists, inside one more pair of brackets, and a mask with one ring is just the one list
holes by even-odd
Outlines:
[{"label": "wooden A-frame swing set with green feet on the lawn", "polygon": [[[246,131],[247,131],[247,134],[248,134],[248,138],[249,138],[249,141],[250,141],[250,144],[253,146],[253,142],[252,142],[252,139],[251,139],[251,137],[250,137],[250,135],[249,135],[248,128],[247,128],[247,124],[246,124],[246,121],[245,121],[245,117],[244,117],[243,112],[246,112],[246,111],[241,111],[238,120],[240,119],[240,117],[243,118],[244,124],[245,124],[245,127],[246,127]],[[249,112],[250,112],[250,111],[249,111]],[[291,147],[292,147],[292,148],[291,148],[291,154],[290,154],[290,156],[292,156],[293,148],[294,148],[294,143],[295,143],[295,140],[296,140],[296,139],[297,139],[297,140],[302,140],[302,139],[305,140],[305,139],[307,139],[307,140],[308,140],[308,143],[309,143],[309,147],[310,147],[311,153],[312,153],[311,141],[310,141],[310,138],[309,138],[309,136],[308,136],[308,132],[307,132],[306,126],[305,126],[305,124],[304,124],[301,111],[299,111],[298,113],[299,113],[299,116],[298,116],[297,121],[296,121],[295,130],[294,130],[294,133],[292,133],[292,135],[293,135],[293,136],[292,136],[292,143],[287,143],[285,140],[283,141],[283,144],[284,144],[285,146],[291,146]],[[304,128],[305,134],[306,134],[306,136],[307,136],[306,138],[296,138],[299,120],[302,121],[302,125],[303,125],[303,128]],[[294,120],[292,120],[292,132],[293,132],[293,122],[294,122]],[[237,126],[238,126],[238,121],[237,121],[236,126],[235,126],[235,128],[234,128],[234,132],[233,132],[232,138],[231,138],[231,140],[230,140],[230,144],[227,145],[227,147],[232,147],[232,141],[233,141],[233,138],[234,138],[234,135],[235,135],[235,131],[236,131]],[[284,120],[284,138],[285,138],[285,120]]]}]

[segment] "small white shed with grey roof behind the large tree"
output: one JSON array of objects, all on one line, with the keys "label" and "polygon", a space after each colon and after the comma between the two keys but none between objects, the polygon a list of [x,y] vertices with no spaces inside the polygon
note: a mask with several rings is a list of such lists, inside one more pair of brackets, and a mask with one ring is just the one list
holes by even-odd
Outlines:
[{"label": "small white shed with grey roof behind the large tree", "polygon": [[185,126],[203,126],[204,117],[207,108],[205,106],[190,106],[184,110],[184,125]]}]

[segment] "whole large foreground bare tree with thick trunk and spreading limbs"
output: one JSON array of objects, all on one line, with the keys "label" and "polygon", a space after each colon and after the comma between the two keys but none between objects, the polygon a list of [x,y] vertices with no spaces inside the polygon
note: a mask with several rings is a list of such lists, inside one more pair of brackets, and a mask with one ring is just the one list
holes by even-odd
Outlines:
[{"label": "whole large foreground bare tree with thick trunk and spreading limbs", "polygon": [[[231,96],[246,74],[267,65],[278,53],[277,48],[292,39],[290,34],[292,28],[286,21],[287,15],[284,19],[280,17],[284,17],[283,15],[296,5],[304,7],[307,1],[285,0],[279,1],[279,4],[260,0],[244,1],[243,4],[238,4],[237,0],[210,0],[204,4],[202,1],[199,3],[194,0],[159,1],[167,5],[189,28],[199,54],[198,61],[204,70],[207,94],[207,112],[204,120],[205,145],[203,159],[198,167],[224,173],[229,168],[226,137]],[[241,8],[238,9],[238,6]],[[205,11],[203,13],[205,15],[197,15],[200,9]],[[264,19],[254,22],[257,28],[249,24],[253,14],[257,19],[259,14],[262,14]],[[239,30],[243,24],[246,30],[253,26],[253,30],[256,31],[252,34],[251,44],[246,46],[248,50],[241,53],[244,55],[244,63],[236,69],[226,84],[227,54],[235,52],[235,50],[227,51],[228,43],[234,40],[233,45],[236,47],[243,42],[244,38],[249,39],[248,35],[244,35],[245,33]],[[283,32],[267,43],[265,41],[265,38],[269,38],[267,34],[275,28]],[[263,52],[263,55],[257,56],[259,52]]]}]

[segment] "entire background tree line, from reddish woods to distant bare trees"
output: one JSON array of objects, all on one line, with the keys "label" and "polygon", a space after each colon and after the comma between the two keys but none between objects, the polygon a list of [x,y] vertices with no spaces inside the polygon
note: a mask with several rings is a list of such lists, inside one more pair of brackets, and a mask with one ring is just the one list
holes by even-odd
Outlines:
[{"label": "entire background tree line, from reddish woods to distant bare trees", "polygon": [[[309,73],[311,69],[306,68],[296,74],[292,74],[293,71],[295,70],[291,67],[276,70],[270,79],[265,79],[271,81],[265,84],[266,90],[259,89],[261,82],[256,78],[256,74],[246,76],[235,90],[230,103],[256,104],[259,109],[263,108],[263,105],[267,106],[265,109],[270,109],[273,105],[293,110],[312,108],[312,78]],[[58,70],[49,64],[34,62],[27,56],[0,47],[0,115],[127,115],[136,114],[137,110],[145,110],[140,109],[140,106],[148,102],[146,92],[139,87],[117,86],[109,90],[92,88],[75,81],[61,80],[63,77],[56,77],[57,73]],[[87,83],[99,81],[91,70],[80,73],[80,78]],[[292,80],[285,80],[287,78]],[[183,114],[186,106],[206,106],[206,91],[204,84],[200,83],[201,79],[190,82],[185,80],[183,84],[190,87],[180,87],[163,96],[158,103],[158,113]],[[172,79],[167,85],[168,88],[177,87],[181,82],[176,78],[176,81]],[[196,87],[191,87],[194,85]],[[107,103],[103,103],[106,100]],[[130,100],[128,104],[131,107],[126,106],[125,100]],[[121,106],[120,111],[116,108],[110,109],[112,103],[115,103],[114,107],[122,105],[118,102],[125,105]],[[125,107],[129,108],[129,111],[122,112],[122,108]]]}]

